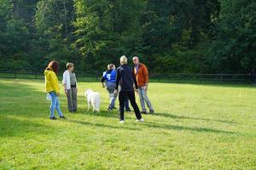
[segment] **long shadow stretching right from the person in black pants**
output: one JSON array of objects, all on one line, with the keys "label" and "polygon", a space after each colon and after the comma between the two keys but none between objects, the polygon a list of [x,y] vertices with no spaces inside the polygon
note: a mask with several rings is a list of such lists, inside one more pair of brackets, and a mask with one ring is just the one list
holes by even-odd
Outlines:
[{"label": "long shadow stretching right from the person in black pants", "polygon": [[166,130],[180,130],[180,131],[187,130],[187,131],[195,131],[198,133],[236,134],[234,132],[223,131],[223,130],[207,128],[207,127],[183,127],[183,126],[177,126],[177,125],[159,124],[159,123],[155,123],[155,122],[144,122],[143,125],[146,127],[160,128],[160,129],[166,129]]}]

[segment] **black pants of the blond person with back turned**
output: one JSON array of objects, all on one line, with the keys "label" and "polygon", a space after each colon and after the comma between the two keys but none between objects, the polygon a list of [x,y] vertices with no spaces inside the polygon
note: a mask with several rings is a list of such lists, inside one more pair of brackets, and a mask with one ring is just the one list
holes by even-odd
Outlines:
[{"label": "black pants of the blond person with back turned", "polygon": [[136,100],[135,100],[135,94],[134,91],[129,91],[129,92],[120,92],[119,93],[119,105],[120,105],[120,120],[124,120],[124,111],[125,111],[125,100],[129,99],[131,102],[131,106],[133,110],[135,111],[135,115],[137,119],[141,119],[141,111],[139,110]]}]

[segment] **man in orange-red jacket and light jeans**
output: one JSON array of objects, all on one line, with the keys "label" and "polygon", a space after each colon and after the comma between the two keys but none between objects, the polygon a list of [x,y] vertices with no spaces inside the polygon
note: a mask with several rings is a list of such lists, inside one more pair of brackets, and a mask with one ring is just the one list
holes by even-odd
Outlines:
[{"label": "man in orange-red jacket and light jeans", "polygon": [[147,114],[147,110],[145,107],[145,102],[148,105],[149,113],[154,113],[153,105],[151,104],[150,100],[148,99],[148,69],[146,65],[143,65],[143,63],[140,63],[137,55],[135,55],[132,59],[134,64],[134,73],[136,75],[137,84],[138,84],[138,94],[140,98],[140,102],[142,105],[142,113]]}]

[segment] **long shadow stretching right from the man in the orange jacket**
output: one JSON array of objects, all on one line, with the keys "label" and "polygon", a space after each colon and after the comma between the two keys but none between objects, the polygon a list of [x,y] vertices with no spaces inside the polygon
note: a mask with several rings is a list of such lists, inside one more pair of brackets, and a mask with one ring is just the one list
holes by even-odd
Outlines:
[{"label": "long shadow stretching right from the man in the orange jacket", "polygon": [[191,119],[195,121],[208,121],[208,122],[224,122],[224,123],[237,123],[232,121],[223,121],[223,120],[216,120],[216,119],[207,119],[207,118],[201,118],[201,117],[190,117],[190,116],[176,116],[169,113],[155,113],[152,116],[163,116],[163,117],[169,117],[172,119]]}]

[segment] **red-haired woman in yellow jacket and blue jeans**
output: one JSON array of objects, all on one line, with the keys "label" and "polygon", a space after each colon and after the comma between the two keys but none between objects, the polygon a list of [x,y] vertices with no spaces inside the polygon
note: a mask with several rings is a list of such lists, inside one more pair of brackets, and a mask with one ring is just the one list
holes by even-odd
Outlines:
[{"label": "red-haired woman in yellow jacket and blue jeans", "polygon": [[45,79],[45,90],[50,95],[51,104],[50,104],[50,116],[51,120],[57,119],[55,117],[55,109],[57,110],[58,115],[61,119],[65,119],[60,108],[60,102],[58,96],[60,95],[60,85],[57,78],[59,69],[59,64],[57,61],[49,62],[49,65],[44,71],[44,79]]}]

